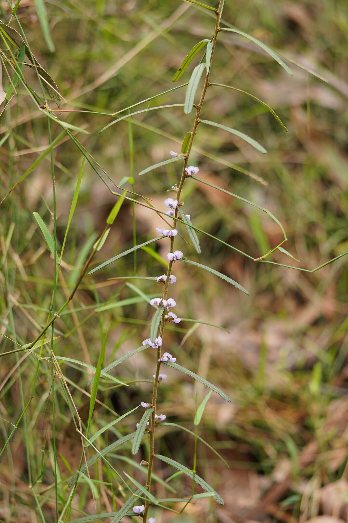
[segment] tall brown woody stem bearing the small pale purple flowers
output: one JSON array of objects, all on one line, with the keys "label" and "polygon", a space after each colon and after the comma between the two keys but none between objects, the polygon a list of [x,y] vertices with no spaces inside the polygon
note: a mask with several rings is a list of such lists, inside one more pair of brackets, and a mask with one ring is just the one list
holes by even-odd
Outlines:
[{"label": "tall brown woody stem bearing the small pale purple flowers", "polygon": [[[219,22],[220,22],[220,18],[221,18],[221,12],[222,12],[222,8],[223,8],[223,4],[224,4],[224,0],[220,0],[219,8],[218,8],[218,10],[216,12],[217,20],[216,20],[216,23],[215,23],[214,36],[213,36],[213,39],[212,39],[212,51],[211,51],[211,56],[210,56],[210,65],[211,65],[212,58],[213,58],[213,53],[214,53],[214,48],[215,48],[215,43],[216,43],[216,40],[217,40],[218,32],[220,31]],[[196,135],[197,126],[198,126],[199,121],[200,121],[199,120],[200,111],[201,111],[202,104],[203,104],[203,101],[204,101],[205,96],[206,96],[207,88],[209,87],[209,73],[210,73],[210,67],[209,67],[209,70],[208,70],[208,72],[206,74],[206,79],[205,79],[205,83],[204,83],[204,86],[203,86],[202,94],[201,94],[201,97],[200,97],[200,100],[199,100],[199,104],[196,106],[196,118],[195,118],[193,130],[192,130],[192,133],[191,133],[190,141],[189,141],[189,144],[188,144],[187,153],[186,153],[186,156],[185,156],[183,172],[182,172],[180,183],[179,183],[179,187],[178,187],[178,190],[177,190],[177,197],[176,198],[177,198],[177,201],[179,203],[180,203],[179,199],[180,199],[181,191],[182,191],[182,188],[183,188],[183,185],[184,185],[184,181],[185,181],[185,178],[187,177],[185,168],[188,165],[188,159],[189,159],[189,155],[190,155],[190,152],[191,152],[191,147],[192,147],[195,135]],[[174,215],[174,224],[176,223],[177,213],[178,213],[178,210],[176,208],[175,209],[175,215]],[[172,236],[171,237],[171,250],[170,250],[171,253],[174,252],[174,240],[175,240],[175,237]],[[170,261],[169,265],[168,265],[168,269],[167,269],[165,284],[164,284],[164,291],[163,291],[163,299],[164,300],[167,299],[169,278],[171,276],[172,266],[173,266],[173,261]],[[159,334],[159,336],[161,336],[161,337],[162,337],[163,331],[164,331],[164,313],[165,313],[165,310],[163,312],[162,321],[161,321],[161,325],[160,325],[160,334]],[[157,349],[157,360],[159,360],[160,358],[161,358],[161,347],[158,347],[158,349]],[[156,406],[157,406],[157,391],[158,391],[160,367],[161,367],[161,362],[157,361],[157,367],[156,367],[156,373],[155,373],[155,378],[154,378],[154,382],[153,382],[153,391],[152,391],[152,406],[154,407],[154,411],[153,411],[153,413],[151,415],[150,457],[149,457],[149,465],[148,465],[148,475],[147,475],[147,480],[146,480],[146,488],[147,488],[148,491],[150,491],[150,487],[151,487],[151,474],[152,474],[153,458],[154,458],[154,429],[155,429],[155,417],[154,416],[155,416]],[[149,510],[149,501],[146,501],[144,515],[143,515],[143,523],[147,522],[148,510]]]}]

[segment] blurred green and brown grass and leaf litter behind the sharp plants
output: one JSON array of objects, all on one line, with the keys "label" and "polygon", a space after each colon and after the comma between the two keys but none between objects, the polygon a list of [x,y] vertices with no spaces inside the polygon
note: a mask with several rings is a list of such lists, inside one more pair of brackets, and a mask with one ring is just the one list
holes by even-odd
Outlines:
[{"label": "blurred green and brown grass and leaf litter behind the sharp plants", "polygon": [[[213,0],[207,3],[217,4]],[[150,111],[99,131],[114,119],[107,114],[176,86],[172,84],[174,72],[197,41],[211,37],[213,17],[178,0],[55,0],[45,3],[55,47],[50,52],[37,16],[38,5],[21,0],[17,16],[33,54],[65,98],[62,109],[68,112],[57,112],[57,116],[88,131],[73,134],[110,176],[112,189],[113,182],[134,175],[133,190],[161,209],[165,190],[178,181],[176,164],[141,178],[137,174],[168,158],[170,150],[180,150],[192,127],[193,113],[186,116],[181,107]],[[3,1],[4,23],[10,20],[10,11]],[[190,164],[199,165],[200,177],[209,183],[266,207],[281,221],[289,238],[283,246],[299,263],[279,251],[269,260],[313,269],[344,253],[348,246],[348,4],[345,0],[226,0],[223,20],[278,51],[289,60],[294,76],[243,37],[220,33],[211,81],[262,99],[278,113],[288,132],[250,97],[210,87],[202,117],[248,134],[268,154],[258,153],[220,129],[200,126]],[[11,27],[20,30],[15,19]],[[6,54],[4,46],[2,49]],[[188,82],[200,56],[178,84]],[[24,67],[23,74],[40,94],[35,71]],[[3,79],[6,91],[5,70]],[[183,103],[184,95],[185,87],[179,88],[138,109]],[[49,105],[57,110],[53,102]],[[51,128],[55,139],[62,129],[54,122]],[[0,131],[2,199],[50,143],[47,119],[21,83],[6,107]],[[60,252],[82,154],[66,136],[54,148],[53,158]],[[128,182],[124,187],[131,185]],[[279,227],[265,213],[194,180],[185,184],[183,200],[195,226],[255,258],[282,240]],[[115,201],[86,162],[59,273],[56,310],[73,289]],[[50,155],[1,205],[1,353],[31,343],[44,327],[50,308],[53,256],[33,212],[39,213],[53,235]],[[133,245],[134,212],[137,242],[155,236],[158,215],[125,201],[95,261],[101,263]],[[346,520],[346,259],[309,274],[255,263],[204,235],[200,242],[200,257],[183,241],[177,245],[191,259],[224,272],[250,292],[247,297],[208,272],[175,265],[177,283],[172,294],[178,303],[177,314],[230,331],[182,322],[167,331],[165,346],[178,362],[232,397],[232,404],[227,404],[212,394],[199,426],[199,435],[230,465],[227,469],[199,444],[198,473],[217,489],[225,506],[211,498],[199,499],[180,516],[158,510],[158,523],[167,519],[178,523]],[[1,358],[2,443],[17,424],[34,386],[33,400],[1,457],[1,521],[56,521],[55,454],[58,513],[63,510],[62,520],[67,517],[64,507],[71,493],[67,484],[81,456],[71,405],[74,402],[84,424],[90,393],[86,384],[92,373],[88,367],[59,357],[95,366],[103,336],[109,332],[107,365],[115,354],[119,357],[133,350],[148,337],[152,312],[139,292],[153,297],[158,294],[157,284],[134,280],[127,285],[107,278],[135,271],[142,276],[162,274],[165,269],[159,256],[165,258],[166,243],[152,247],[155,251],[137,251],[136,257],[124,257],[82,280],[74,300],[55,322],[57,338],[52,349],[65,383],[56,376],[53,393],[50,344],[43,348],[37,377],[39,349]],[[141,353],[113,375],[143,380],[151,379],[153,371],[153,358]],[[167,374],[160,386],[159,411],[170,422],[193,430],[195,393],[201,401],[207,391],[173,369]],[[123,414],[146,400],[151,391],[150,383],[109,390],[112,386],[106,379],[101,382],[91,434],[110,423],[115,412]],[[139,416],[136,411],[106,431],[95,445],[102,449],[133,431]],[[171,427],[158,430],[158,435],[158,451],[192,467],[194,438]],[[146,452],[145,445],[144,459]],[[113,467],[143,482],[140,470],[131,472],[129,445],[117,454],[108,458]],[[138,457],[136,460],[139,463]],[[79,483],[67,521],[122,506],[124,487],[112,469],[101,461],[94,467],[91,480],[86,476]],[[173,470],[157,463],[155,472],[165,480]],[[170,484],[176,495],[190,494],[190,482],[183,475]],[[159,497],[173,495],[163,483],[156,485]],[[171,506],[180,510],[182,504]]]}]

